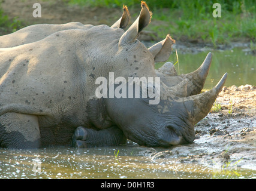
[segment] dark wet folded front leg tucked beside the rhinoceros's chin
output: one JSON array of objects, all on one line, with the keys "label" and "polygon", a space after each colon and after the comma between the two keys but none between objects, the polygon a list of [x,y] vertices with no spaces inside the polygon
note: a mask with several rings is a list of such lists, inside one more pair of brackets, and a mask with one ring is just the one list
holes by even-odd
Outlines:
[{"label": "dark wet folded front leg tucked beside the rhinoceros's chin", "polygon": [[124,133],[115,126],[98,131],[80,126],[73,135],[72,146],[77,148],[116,146],[126,142]]}]

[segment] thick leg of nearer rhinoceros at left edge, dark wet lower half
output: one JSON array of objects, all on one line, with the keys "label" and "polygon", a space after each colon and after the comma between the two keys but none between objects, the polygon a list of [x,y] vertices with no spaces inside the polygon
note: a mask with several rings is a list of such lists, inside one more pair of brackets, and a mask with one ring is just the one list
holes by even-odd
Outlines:
[{"label": "thick leg of nearer rhinoceros at left edge, dark wet lower half", "polygon": [[28,149],[39,146],[40,130],[37,116],[14,112],[0,116],[0,147]]}]

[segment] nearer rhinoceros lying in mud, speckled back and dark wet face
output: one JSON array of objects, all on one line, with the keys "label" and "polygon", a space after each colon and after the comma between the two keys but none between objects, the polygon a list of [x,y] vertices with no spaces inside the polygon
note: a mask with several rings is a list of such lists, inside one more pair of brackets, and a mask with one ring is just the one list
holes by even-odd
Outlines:
[{"label": "nearer rhinoceros lying in mud, speckled back and dark wet face", "polygon": [[[195,72],[164,76],[168,71],[162,67],[157,74],[155,61],[170,56],[173,41],[167,35],[150,48],[138,41],[150,19],[141,2],[140,15],[126,32],[106,25],[61,30],[0,49],[0,146],[111,146],[127,139],[144,146],[192,143],[194,125],[211,109],[227,73],[201,94],[194,93],[201,89],[198,81],[205,81],[210,53]],[[162,76],[159,103],[149,104],[149,96],[98,98],[96,81],[109,80],[110,73],[127,81]],[[172,77],[177,79],[173,84]]]}]

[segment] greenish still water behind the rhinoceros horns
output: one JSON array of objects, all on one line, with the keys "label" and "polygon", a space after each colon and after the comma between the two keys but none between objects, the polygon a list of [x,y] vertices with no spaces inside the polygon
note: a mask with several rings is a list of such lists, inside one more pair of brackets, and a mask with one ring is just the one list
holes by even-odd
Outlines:
[{"label": "greenish still water behind the rhinoceros horns", "polygon": [[[174,50],[175,51],[175,50]],[[173,51],[168,61],[176,63],[176,54]],[[212,64],[210,66],[209,74],[206,78],[204,88],[211,89],[214,87],[225,72],[228,73],[225,86],[230,87],[236,85],[256,85],[256,56],[248,54],[243,51],[242,48],[233,48],[232,50],[225,51],[211,51]],[[181,73],[189,73],[196,70],[201,63],[203,63],[209,51],[200,52],[197,54],[179,54],[179,70]],[[156,68],[161,67],[163,63],[157,63]],[[176,72],[178,72],[178,66],[175,64]],[[213,79],[213,82],[211,82]]]}]

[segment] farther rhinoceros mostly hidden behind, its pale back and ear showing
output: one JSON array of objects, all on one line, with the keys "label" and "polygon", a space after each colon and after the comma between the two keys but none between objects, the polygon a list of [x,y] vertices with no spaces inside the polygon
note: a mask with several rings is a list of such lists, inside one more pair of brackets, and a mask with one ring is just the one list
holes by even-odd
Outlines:
[{"label": "farther rhinoceros mostly hidden behind, its pale back and ear showing", "polygon": [[[125,29],[129,23],[129,11],[127,6],[123,7],[121,18],[116,21],[111,27]],[[28,44],[39,41],[52,33],[69,30],[69,29],[90,29],[92,24],[82,24],[79,22],[71,22],[66,24],[34,24],[17,30],[14,33],[0,36],[0,48],[17,47],[18,45]]]}]

